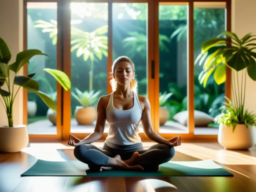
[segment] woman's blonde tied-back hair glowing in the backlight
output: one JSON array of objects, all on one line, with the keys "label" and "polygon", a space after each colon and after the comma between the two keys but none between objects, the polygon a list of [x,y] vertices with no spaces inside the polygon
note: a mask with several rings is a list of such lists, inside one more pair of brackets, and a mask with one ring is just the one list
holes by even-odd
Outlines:
[{"label": "woman's blonde tied-back hair glowing in the backlight", "polygon": [[[129,59],[128,57],[126,56],[121,56],[121,57],[118,57],[114,62],[113,62],[113,65],[112,65],[112,79],[110,80],[110,84],[111,84],[111,87],[112,87],[112,92],[114,92],[116,90],[116,87],[117,87],[117,83],[115,81],[115,79],[113,78],[113,74],[115,73],[115,69],[116,69],[116,65],[120,62],[123,62],[123,61],[126,61],[126,62],[129,62],[132,66],[132,71],[135,72],[135,68],[134,68],[134,63],[132,62],[131,59]],[[134,77],[134,79],[131,81],[130,83],[130,87],[131,87],[131,90],[134,91],[135,93],[137,93],[137,86],[138,86],[138,83]]]}]

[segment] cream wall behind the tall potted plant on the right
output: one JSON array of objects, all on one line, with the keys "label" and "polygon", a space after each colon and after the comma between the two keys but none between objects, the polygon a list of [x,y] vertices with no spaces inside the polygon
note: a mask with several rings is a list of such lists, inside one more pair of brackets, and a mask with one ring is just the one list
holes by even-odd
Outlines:
[{"label": "cream wall behind the tall potted plant on the right", "polygon": [[[231,10],[232,32],[242,38],[247,33],[256,35],[256,1],[255,0],[233,0]],[[256,43],[256,41],[251,42]],[[255,50],[254,50],[255,51]],[[234,73],[232,73],[234,75]],[[235,74],[236,77],[236,74]],[[241,80],[241,73],[239,74]],[[245,109],[256,112],[256,82],[248,75],[246,77]]]}]

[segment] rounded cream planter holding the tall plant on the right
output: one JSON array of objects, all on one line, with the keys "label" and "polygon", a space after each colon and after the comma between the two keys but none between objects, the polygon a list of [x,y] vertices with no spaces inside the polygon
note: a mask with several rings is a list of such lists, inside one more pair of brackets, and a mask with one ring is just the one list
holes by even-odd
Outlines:
[{"label": "rounded cream planter holding the tall plant on the right", "polygon": [[219,125],[218,142],[225,149],[230,150],[248,150],[256,144],[256,128],[243,124],[238,124],[234,132],[233,127]]}]

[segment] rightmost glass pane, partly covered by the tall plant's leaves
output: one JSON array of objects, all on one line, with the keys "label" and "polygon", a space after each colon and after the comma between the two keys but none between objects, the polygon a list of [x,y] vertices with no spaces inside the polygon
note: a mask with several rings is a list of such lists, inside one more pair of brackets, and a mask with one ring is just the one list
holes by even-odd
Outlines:
[{"label": "rightmost glass pane, partly covered by the tall plant's leaves", "polygon": [[[223,5],[224,4],[224,5]],[[217,37],[226,29],[226,5],[224,2],[196,2],[194,3],[194,59],[201,52],[203,42]],[[216,47],[211,48],[208,54],[212,54]],[[218,85],[214,80],[214,73],[209,68],[204,72],[205,61],[202,64],[195,63],[195,131],[199,135],[217,135],[219,125],[214,123],[214,118],[220,114],[219,109],[224,101],[225,83]],[[224,66],[219,64],[220,68]],[[224,67],[225,70],[225,67]],[[212,73],[210,73],[212,71]],[[209,73],[208,73],[209,72]],[[209,74],[209,78],[203,73]],[[201,75],[200,75],[201,74]],[[207,80],[204,83],[204,79]]]}]

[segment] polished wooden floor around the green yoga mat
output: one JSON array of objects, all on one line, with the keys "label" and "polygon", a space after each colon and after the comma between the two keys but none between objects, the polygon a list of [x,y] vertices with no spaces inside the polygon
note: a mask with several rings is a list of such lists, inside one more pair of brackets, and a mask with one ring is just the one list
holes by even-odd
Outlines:
[{"label": "polished wooden floor around the green yoga mat", "polygon": [[[73,147],[65,143],[30,143],[30,147],[20,153],[0,153],[0,191],[249,192],[256,188],[256,147],[249,151],[228,151],[217,143],[182,143],[175,147],[172,161],[212,159],[234,177],[20,177],[36,159],[74,159]],[[103,143],[94,144],[100,147]],[[153,144],[143,143],[145,148]]]}]

